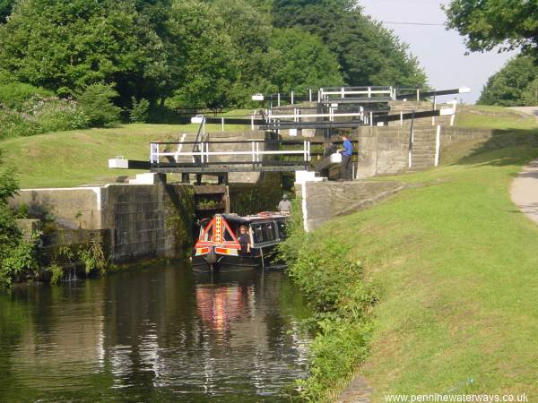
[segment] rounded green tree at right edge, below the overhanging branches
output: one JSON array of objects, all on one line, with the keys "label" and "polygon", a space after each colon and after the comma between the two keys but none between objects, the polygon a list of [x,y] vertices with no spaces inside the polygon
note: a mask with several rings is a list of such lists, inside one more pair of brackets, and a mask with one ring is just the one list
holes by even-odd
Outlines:
[{"label": "rounded green tree at right edge, below the overhanging branches", "polygon": [[[529,83],[536,78],[538,78],[538,67],[534,59],[530,56],[516,56],[490,77],[482,89],[478,103],[501,107],[525,105],[533,98],[533,91],[527,88]],[[530,93],[526,94],[527,92]]]}]

